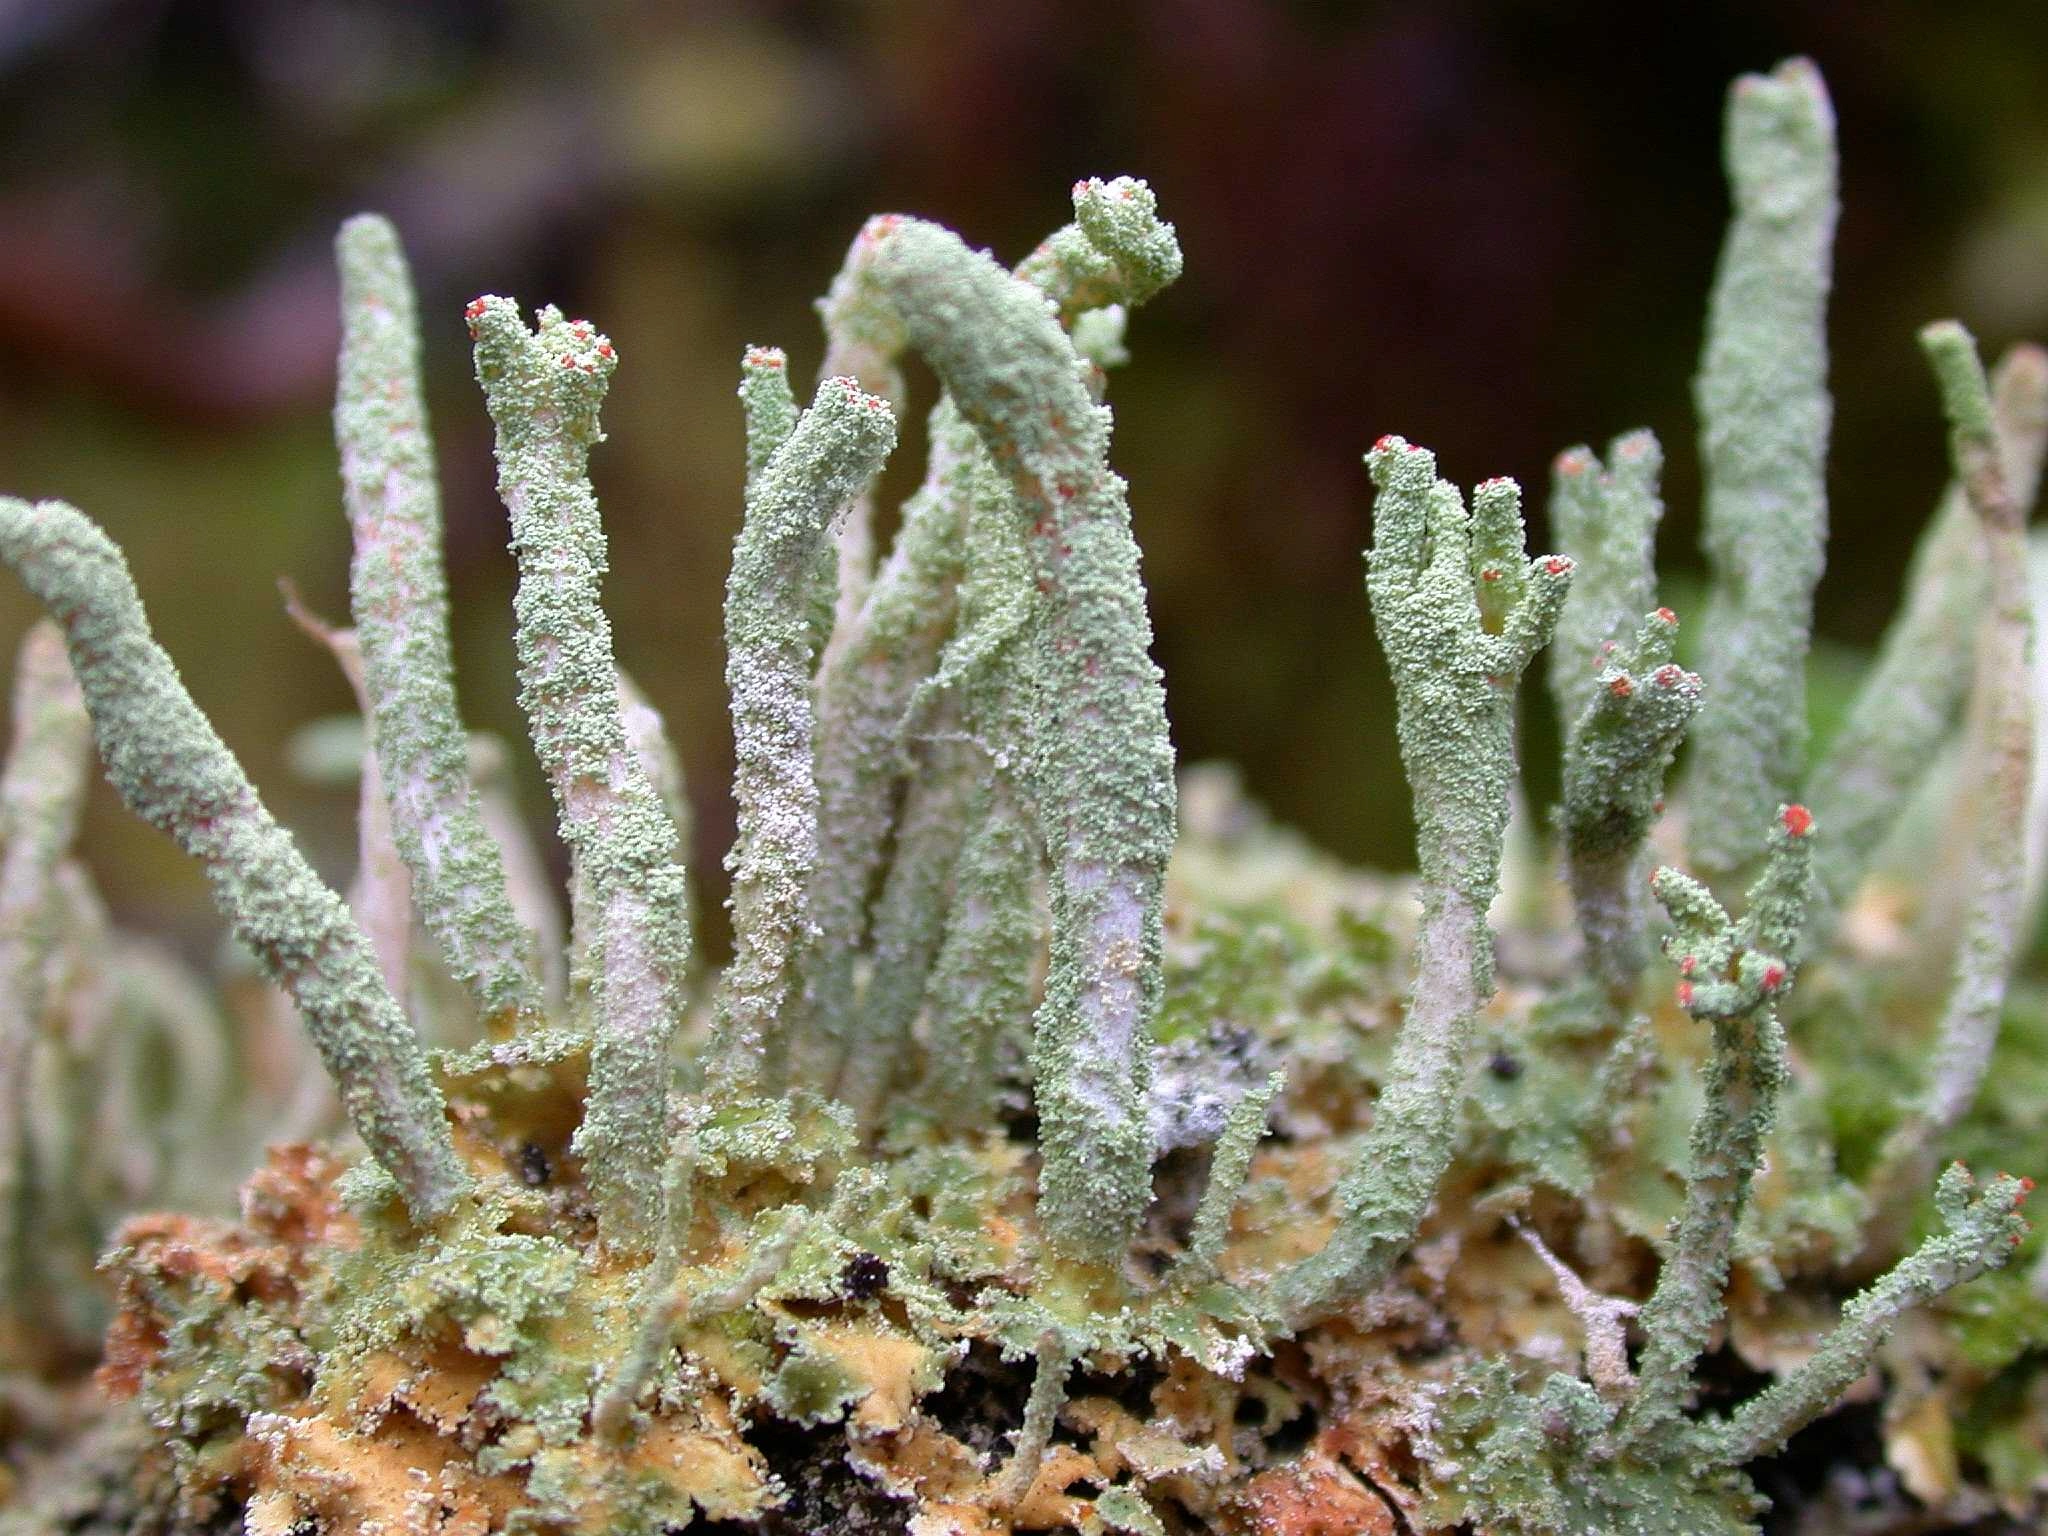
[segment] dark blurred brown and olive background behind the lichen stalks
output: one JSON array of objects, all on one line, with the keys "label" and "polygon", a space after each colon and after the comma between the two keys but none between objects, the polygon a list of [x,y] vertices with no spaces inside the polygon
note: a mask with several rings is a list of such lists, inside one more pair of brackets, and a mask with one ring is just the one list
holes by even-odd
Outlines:
[{"label": "dark blurred brown and olive background behind the lichen stalks", "polygon": [[[870,211],[1016,258],[1077,176],[1141,174],[1188,274],[1133,326],[1116,463],[1180,752],[1401,862],[1360,451],[1399,430],[1464,483],[1518,475],[1540,524],[1559,449],[1655,426],[1686,608],[1720,100],[1796,51],[1843,147],[1825,700],[1944,477],[1915,326],[2048,334],[2040,0],[0,0],[0,485],[125,545],[193,692],[342,877],[350,797],[297,782],[285,745],[348,696],[274,588],[346,612],[334,225],[381,209],[410,244],[465,713],[514,737],[512,563],[459,311],[498,291],[590,315],[625,356],[594,465],[608,606],[717,887],[743,344],[815,369],[809,303]],[[0,582],[8,653],[29,616]],[[524,793],[545,825],[539,774]],[[104,793],[88,838],[135,922],[215,932],[197,872]]]}]

